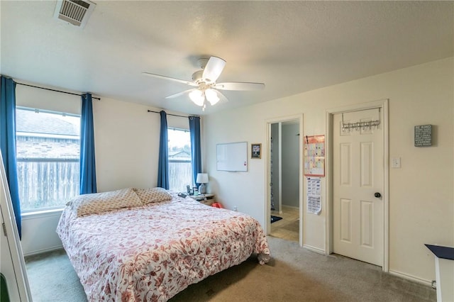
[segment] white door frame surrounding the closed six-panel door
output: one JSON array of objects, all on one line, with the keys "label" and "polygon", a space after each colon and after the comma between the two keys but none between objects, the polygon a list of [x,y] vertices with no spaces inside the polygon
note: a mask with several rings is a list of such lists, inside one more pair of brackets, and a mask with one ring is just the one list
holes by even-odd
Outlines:
[{"label": "white door frame surrounding the closed six-panel door", "polygon": [[383,117],[383,272],[389,271],[389,122],[388,122],[388,103],[389,99],[372,101],[370,103],[355,104],[343,106],[340,108],[331,108],[326,110],[326,219],[325,219],[325,246],[326,255],[333,253],[333,116],[337,113],[347,113],[351,111],[367,110],[372,108],[381,108]]}]

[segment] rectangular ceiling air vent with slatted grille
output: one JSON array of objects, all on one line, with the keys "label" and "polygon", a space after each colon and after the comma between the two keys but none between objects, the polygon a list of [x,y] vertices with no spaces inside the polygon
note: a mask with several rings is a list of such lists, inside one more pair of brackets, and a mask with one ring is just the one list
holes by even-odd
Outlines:
[{"label": "rectangular ceiling air vent with slatted grille", "polygon": [[87,0],[58,0],[54,17],[84,28],[95,6]]}]

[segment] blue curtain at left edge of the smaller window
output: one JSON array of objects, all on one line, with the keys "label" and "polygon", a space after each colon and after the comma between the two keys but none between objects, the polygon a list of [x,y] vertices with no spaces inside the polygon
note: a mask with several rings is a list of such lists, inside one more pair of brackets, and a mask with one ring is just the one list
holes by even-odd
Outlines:
[{"label": "blue curtain at left edge of the smaller window", "polygon": [[157,186],[169,189],[169,148],[167,138],[167,113],[160,111],[161,131],[159,142],[159,163],[157,165]]}]

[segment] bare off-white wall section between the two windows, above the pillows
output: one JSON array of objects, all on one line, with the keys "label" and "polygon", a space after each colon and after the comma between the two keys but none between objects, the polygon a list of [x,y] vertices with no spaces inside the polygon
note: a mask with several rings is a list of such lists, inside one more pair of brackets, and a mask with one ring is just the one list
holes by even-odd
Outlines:
[{"label": "bare off-white wall section between the two windows, above the pillows", "polygon": [[93,102],[93,118],[98,191],[156,186],[160,115],[102,98]]}]

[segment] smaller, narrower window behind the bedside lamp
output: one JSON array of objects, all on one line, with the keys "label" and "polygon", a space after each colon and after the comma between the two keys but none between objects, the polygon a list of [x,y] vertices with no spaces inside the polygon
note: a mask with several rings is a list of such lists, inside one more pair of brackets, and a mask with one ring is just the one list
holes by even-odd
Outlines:
[{"label": "smaller, narrower window behind the bedside lamp", "polygon": [[191,135],[189,130],[167,129],[169,147],[169,189],[186,191],[193,186],[191,162]]}]

